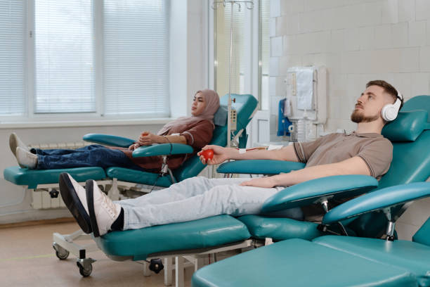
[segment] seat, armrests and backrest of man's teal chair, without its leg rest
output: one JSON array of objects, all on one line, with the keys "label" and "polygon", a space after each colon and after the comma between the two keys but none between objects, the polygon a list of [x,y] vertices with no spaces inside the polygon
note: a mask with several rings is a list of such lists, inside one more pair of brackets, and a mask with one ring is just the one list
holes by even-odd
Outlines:
[{"label": "seat, armrests and backrest of man's teal chair, without its leg rest", "polygon": [[[393,160],[389,172],[379,180],[379,183],[371,177],[364,176],[360,177],[360,181],[351,181],[344,176],[315,179],[280,191],[266,201],[263,212],[282,212],[310,203],[321,204],[328,211],[327,203],[336,198],[351,198],[388,186],[426,181],[430,177],[429,113],[430,96],[416,96],[405,102],[398,118],[384,127],[382,134],[393,144]],[[300,162],[237,160],[221,165],[218,172],[279,174],[302,167],[304,164]],[[349,186],[349,189],[342,190],[342,184]],[[351,189],[353,191],[350,191]],[[403,210],[399,206],[393,210],[393,214],[400,216]],[[330,228],[314,222],[275,216],[245,215],[238,219],[245,223],[253,238],[272,238],[273,241],[289,238],[312,240],[329,233],[378,238],[383,235],[386,224],[386,218],[380,212],[370,212],[346,219]]]}]

